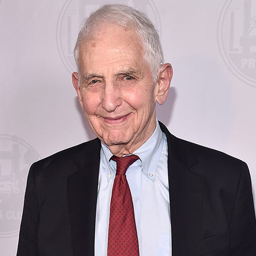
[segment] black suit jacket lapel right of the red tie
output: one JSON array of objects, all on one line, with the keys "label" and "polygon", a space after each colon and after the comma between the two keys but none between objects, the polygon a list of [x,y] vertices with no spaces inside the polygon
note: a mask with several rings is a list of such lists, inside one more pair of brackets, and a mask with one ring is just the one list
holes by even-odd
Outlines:
[{"label": "black suit jacket lapel right of the red tie", "polygon": [[160,126],[168,142],[172,255],[196,255],[204,179],[191,171],[197,159],[185,145],[187,142],[171,135],[163,124]]}]

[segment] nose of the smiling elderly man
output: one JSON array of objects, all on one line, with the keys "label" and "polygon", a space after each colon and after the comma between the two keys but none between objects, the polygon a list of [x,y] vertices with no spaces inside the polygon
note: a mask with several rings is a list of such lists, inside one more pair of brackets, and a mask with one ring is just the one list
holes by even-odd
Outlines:
[{"label": "nose of the smiling elderly man", "polygon": [[106,82],[102,95],[102,108],[107,112],[113,112],[121,102],[121,93],[115,83]]}]

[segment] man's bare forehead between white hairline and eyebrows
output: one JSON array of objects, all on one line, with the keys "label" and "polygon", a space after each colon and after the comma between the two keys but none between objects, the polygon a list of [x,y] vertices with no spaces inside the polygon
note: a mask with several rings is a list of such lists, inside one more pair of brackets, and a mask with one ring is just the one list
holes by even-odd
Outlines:
[{"label": "man's bare forehead between white hairline and eyebrows", "polygon": [[118,60],[144,61],[144,48],[137,32],[114,24],[95,27],[80,47],[80,65]]}]

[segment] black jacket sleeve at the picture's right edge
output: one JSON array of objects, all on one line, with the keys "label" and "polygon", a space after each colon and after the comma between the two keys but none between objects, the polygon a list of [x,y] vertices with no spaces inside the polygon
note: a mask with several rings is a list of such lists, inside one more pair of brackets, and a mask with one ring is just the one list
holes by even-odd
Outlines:
[{"label": "black jacket sleeve at the picture's right edge", "polygon": [[256,226],[251,179],[243,163],[230,222],[232,256],[256,255]]}]

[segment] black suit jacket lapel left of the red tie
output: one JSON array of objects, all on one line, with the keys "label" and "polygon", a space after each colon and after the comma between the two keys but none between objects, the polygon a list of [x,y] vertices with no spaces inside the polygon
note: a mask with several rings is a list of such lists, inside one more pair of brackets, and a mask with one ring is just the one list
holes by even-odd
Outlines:
[{"label": "black suit jacket lapel left of the red tie", "polygon": [[99,161],[100,141],[95,139],[88,142],[77,156],[77,172],[68,178],[74,256],[94,255]]}]

